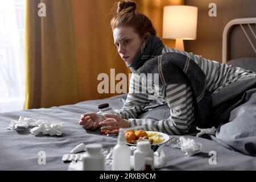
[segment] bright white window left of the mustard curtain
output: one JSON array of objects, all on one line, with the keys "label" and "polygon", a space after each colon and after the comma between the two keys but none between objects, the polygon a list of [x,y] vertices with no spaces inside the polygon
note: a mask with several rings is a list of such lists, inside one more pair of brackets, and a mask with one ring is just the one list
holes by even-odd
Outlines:
[{"label": "bright white window left of the mustard curtain", "polygon": [[0,0],[0,113],[24,106],[24,10],[25,0]]}]

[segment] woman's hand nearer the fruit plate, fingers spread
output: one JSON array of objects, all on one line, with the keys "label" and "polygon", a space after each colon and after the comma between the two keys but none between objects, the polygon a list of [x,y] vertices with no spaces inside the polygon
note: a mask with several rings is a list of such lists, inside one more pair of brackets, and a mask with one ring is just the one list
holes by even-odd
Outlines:
[{"label": "woman's hand nearer the fruit plate, fingers spread", "polygon": [[100,122],[101,130],[109,130],[107,134],[118,134],[119,128],[129,127],[129,122],[126,119],[120,118],[114,114],[104,114],[108,119]]}]

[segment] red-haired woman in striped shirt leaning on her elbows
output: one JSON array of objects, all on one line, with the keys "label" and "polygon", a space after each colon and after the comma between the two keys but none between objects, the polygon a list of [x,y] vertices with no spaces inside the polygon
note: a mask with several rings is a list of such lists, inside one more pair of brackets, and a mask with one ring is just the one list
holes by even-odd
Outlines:
[{"label": "red-haired woman in striped shirt leaning on her elbows", "polygon": [[[102,130],[109,130],[108,134],[118,133],[120,127],[133,127],[144,125],[144,130],[160,131],[167,134],[186,134],[195,121],[196,107],[192,85],[189,82],[153,85],[153,90],[143,86],[142,78],[137,74],[139,69],[144,67],[149,60],[160,55],[183,55],[193,60],[196,69],[200,69],[206,85],[206,91],[211,96],[218,90],[237,80],[245,77],[255,77],[255,73],[245,71],[242,68],[219,64],[216,61],[204,59],[201,56],[193,55],[184,51],[177,51],[164,46],[156,36],[155,28],[150,19],[136,11],[136,4],[131,1],[118,3],[117,14],[111,20],[114,43],[119,55],[131,69],[129,93],[125,105],[117,114],[96,113],[82,114],[79,124],[87,130],[95,130],[101,127]],[[200,72],[198,71],[198,72]],[[170,80],[172,77],[169,78]],[[192,79],[192,78],[191,78]],[[168,82],[168,81],[167,81]],[[146,92],[136,92],[137,89],[146,89]],[[152,98],[164,98],[170,107],[170,117],[161,121],[154,119],[135,119],[137,114],[152,101]],[[209,106],[209,104],[208,104]],[[210,107],[210,106],[209,106]],[[207,109],[205,109],[207,110]],[[210,108],[208,109],[210,110]]]}]

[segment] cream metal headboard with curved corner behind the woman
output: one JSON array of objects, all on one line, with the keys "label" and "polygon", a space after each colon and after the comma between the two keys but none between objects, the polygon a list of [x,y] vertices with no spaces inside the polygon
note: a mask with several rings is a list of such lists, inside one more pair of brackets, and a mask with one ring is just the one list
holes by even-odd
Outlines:
[{"label": "cream metal headboard with curved corner behind the woman", "polygon": [[249,28],[250,28],[250,31],[254,35],[254,39],[256,40],[255,33],[254,33],[253,29],[250,26],[250,24],[256,24],[256,17],[254,17],[254,18],[237,18],[237,19],[233,19],[228,24],[226,24],[226,26],[224,28],[224,31],[223,31],[223,34],[222,34],[222,63],[226,63],[227,48],[228,48],[228,45],[227,45],[228,44],[228,34],[229,34],[230,27],[232,27],[235,24],[239,24],[240,25],[240,27],[243,30],[243,33],[245,33],[246,38],[249,40],[249,43],[251,44],[251,47],[253,47],[254,52],[256,53],[256,46],[253,44],[253,41],[248,36],[247,32],[245,31],[245,28],[243,28],[243,24],[247,24],[249,26]]}]

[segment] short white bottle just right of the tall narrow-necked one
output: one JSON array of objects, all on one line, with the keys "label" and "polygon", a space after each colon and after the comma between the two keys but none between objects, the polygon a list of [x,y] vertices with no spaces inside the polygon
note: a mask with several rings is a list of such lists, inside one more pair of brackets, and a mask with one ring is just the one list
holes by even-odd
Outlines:
[{"label": "short white bottle just right of the tall narrow-necked one", "polygon": [[134,151],[134,171],[141,171],[144,168],[146,158],[151,158],[151,168],[154,169],[154,151],[151,144],[148,141],[140,141]]}]

